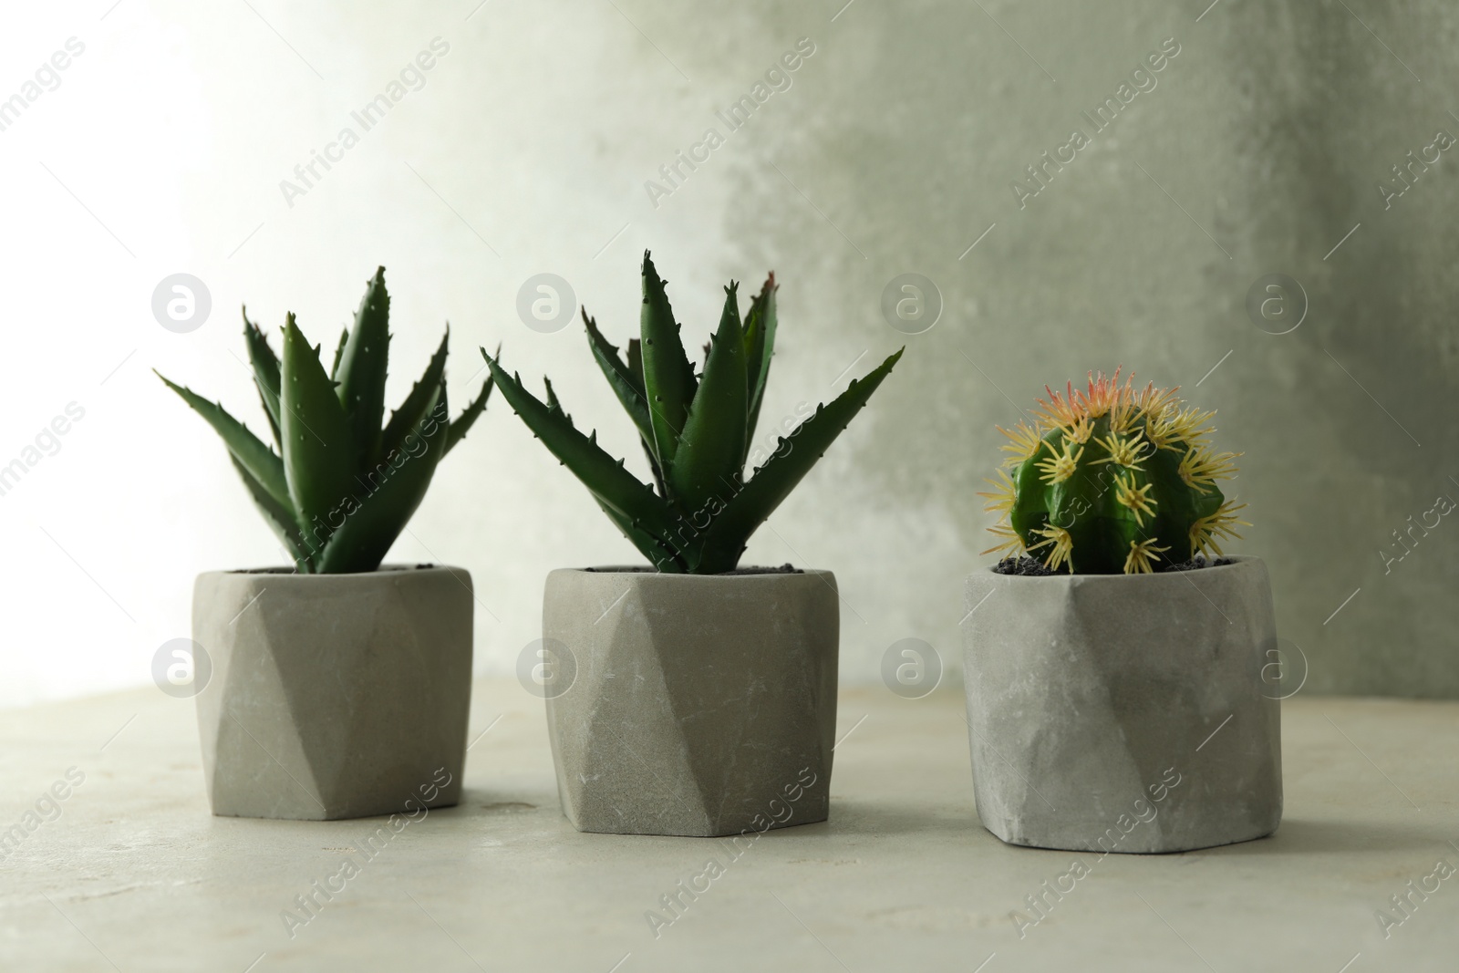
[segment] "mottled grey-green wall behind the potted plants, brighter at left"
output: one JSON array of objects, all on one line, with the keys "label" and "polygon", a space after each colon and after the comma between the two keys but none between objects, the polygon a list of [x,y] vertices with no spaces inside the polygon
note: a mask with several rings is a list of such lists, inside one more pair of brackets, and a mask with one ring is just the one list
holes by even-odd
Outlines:
[{"label": "mottled grey-green wall behind the potted plants, brighter at left", "polygon": [[[1459,499],[1459,155],[1388,209],[1377,190],[1409,150],[1459,133],[1459,9],[842,1],[104,0],[13,15],[9,89],[69,36],[86,53],[0,131],[13,314],[0,433],[13,455],[69,401],[88,417],[0,497],[0,582],[25,605],[0,649],[0,702],[146,681],[156,648],[187,633],[196,572],[279,560],[212,432],[149,366],[258,426],[238,305],[268,327],[296,311],[333,341],[385,264],[394,400],[449,319],[458,388],[480,382],[474,347],[502,341],[642,471],[578,328],[534,333],[515,299],[531,274],[560,274],[626,338],[645,248],[696,344],[725,280],[776,271],[766,426],[909,344],[747,556],[836,570],[843,678],[875,681],[902,637],[956,667],[961,578],[991,560],[975,492],[998,461],[992,426],[1046,382],[1123,365],[1217,408],[1218,443],[1245,451],[1233,486],[1255,527],[1237,550],[1271,566],[1282,635],[1310,662],[1304,691],[1459,696],[1459,525],[1430,513],[1411,553],[1383,556],[1402,553],[1408,518]],[[438,36],[449,53],[423,86],[290,206],[280,181]],[[715,111],[800,38],[816,50],[791,86],[730,133]],[[1081,111],[1167,38],[1179,54],[1156,86],[1094,133]],[[655,206],[645,181],[709,127],[724,146]],[[1074,128],[1091,144],[1020,206],[1010,184]],[[213,299],[187,336],[149,309],[177,271]],[[905,337],[880,299],[909,271],[945,308]],[[1246,311],[1271,273],[1306,293],[1288,334]],[[394,556],[471,569],[479,668],[493,672],[535,637],[547,569],[636,560],[500,403]]]}]

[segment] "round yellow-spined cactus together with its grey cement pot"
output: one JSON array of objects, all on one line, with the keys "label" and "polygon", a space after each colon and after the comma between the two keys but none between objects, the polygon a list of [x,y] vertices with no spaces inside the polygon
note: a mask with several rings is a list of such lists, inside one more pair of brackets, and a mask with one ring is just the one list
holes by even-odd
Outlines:
[{"label": "round yellow-spined cactus together with its grey cement pot", "polygon": [[[1011,845],[1174,852],[1271,834],[1281,712],[1271,584],[1221,543],[1240,454],[1176,389],[1091,375],[1002,430],[986,509],[1007,553],[967,579],[978,815]],[[1033,556],[1037,554],[1036,560]]]}]

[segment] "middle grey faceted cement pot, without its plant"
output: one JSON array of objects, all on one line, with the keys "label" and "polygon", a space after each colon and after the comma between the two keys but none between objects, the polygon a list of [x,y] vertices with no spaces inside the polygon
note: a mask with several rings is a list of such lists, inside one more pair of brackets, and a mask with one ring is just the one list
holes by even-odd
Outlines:
[{"label": "middle grey faceted cement pot, without its plant", "polygon": [[543,640],[563,814],[579,831],[718,836],[824,821],[840,610],[826,570],[554,570]]}]

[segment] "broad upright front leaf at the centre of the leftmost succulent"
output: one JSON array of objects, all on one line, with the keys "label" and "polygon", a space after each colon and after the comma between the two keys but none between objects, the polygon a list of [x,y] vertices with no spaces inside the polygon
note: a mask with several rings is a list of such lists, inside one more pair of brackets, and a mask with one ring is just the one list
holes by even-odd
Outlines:
[{"label": "broad upright front leaf at the centre of the leftmost succulent", "polygon": [[318,346],[309,347],[292,314],[283,331],[279,406],[283,468],[299,527],[305,534],[333,527],[331,515],[355,483],[355,438]]}]

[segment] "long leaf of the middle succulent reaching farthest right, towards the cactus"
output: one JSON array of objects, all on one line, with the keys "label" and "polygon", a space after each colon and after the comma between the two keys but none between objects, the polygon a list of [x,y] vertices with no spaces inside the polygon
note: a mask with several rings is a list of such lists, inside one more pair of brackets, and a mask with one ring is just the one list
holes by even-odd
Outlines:
[{"label": "long leaf of the middle succulent reaching farthest right, towards the cactus", "polygon": [[756,470],[754,477],[709,524],[700,557],[690,565],[690,570],[700,575],[734,570],[750,535],[810,473],[883,379],[891,373],[891,368],[905,350],[897,350],[865,378],[852,379],[846,391],[829,406],[817,406],[816,414],[797,426],[789,436],[781,438],[781,448]]}]

